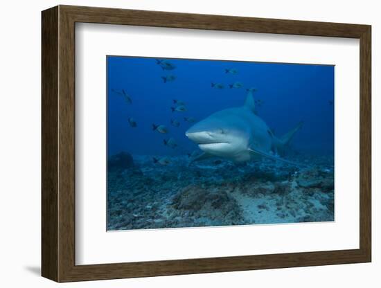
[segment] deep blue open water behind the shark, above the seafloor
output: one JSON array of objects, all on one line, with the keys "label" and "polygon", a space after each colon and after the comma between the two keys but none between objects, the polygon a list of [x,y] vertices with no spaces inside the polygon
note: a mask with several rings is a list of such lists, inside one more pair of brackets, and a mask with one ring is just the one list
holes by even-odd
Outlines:
[{"label": "deep blue open water behind the shark, above the seafloor", "polygon": [[[312,64],[276,64],[260,62],[227,62],[211,60],[168,60],[176,66],[161,69],[155,58],[107,57],[108,154],[127,151],[132,154],[175,155],[197,150],[184,132],[192,123],[191,116],[202,120],[215,111],[241,106],[245,88],[255,87],[256,99],[263,100],[258,115],[281,136],[303,120],[303,129],[292,141],[299,150],[332,154],[334,150],[334,66]],[[236,69],[233,75],[225,69]],[[162,76],[175,75],[172,82]],[[224,84],[213,89],[211,82]],[[229,84],[242,82],[243,88],[229,89]],[[129,105],[112,89],[125,92]],[[186,102],[187,111],[174,113],[172,100]],[[137,127],[130,127],[134,118]],[[180,122],[179,127],[170,124]],[[152,123],[166,125],[168,134],[152,132]],[[168,149],[163,139],[175,138],[179,149]]]}]

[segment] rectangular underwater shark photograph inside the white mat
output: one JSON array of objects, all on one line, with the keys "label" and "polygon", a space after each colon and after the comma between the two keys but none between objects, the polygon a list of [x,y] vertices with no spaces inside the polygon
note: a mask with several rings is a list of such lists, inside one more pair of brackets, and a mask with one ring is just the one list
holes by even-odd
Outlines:
[{"label": "rectangular underwater shark photograph inside the white mat", "polygon": [[335,66],[107,56],[107,231],[335,221]]}]

